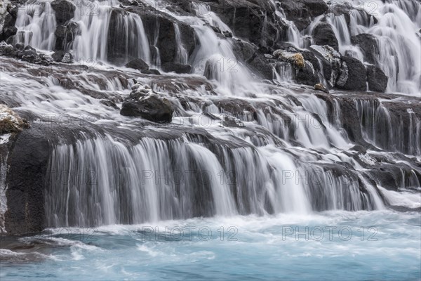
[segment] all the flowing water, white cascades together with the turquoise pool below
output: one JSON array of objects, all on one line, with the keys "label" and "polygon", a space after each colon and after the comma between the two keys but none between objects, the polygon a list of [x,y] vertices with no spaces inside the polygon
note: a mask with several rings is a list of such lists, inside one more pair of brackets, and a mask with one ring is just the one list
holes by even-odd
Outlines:
[{"label": "all the flowing water, white cascades together with the turquoise pool below", "polygon": [[[159,68],[159,27],[148,37],[142,16],[120,11],[119,1],[89,1],[95,14],[86,13],[87,2],[76,5],[79,31],[65,42],[73,68],[31,68],[2,57],[3,103],[34,127],[78,128],[76,141],[63,135],[51,142],[47,229],[0,237],[2,279],[420,279],[421,117],[394,110],[421,106],[420,4],[374,1],[378,22],[355,10],[349,30],[343,15],[328,15],[341,53],[361,55],[351,36],[375,35],[378,63],[395,77],[387,92],[398,94],[323,96],[293,84],[290,67],[259,80],[236,59],[235,32],[196,4],[192,15],[154,5],[177,20],[175,63],[191,64],[192,74],[157,78],[117,67],[110,52],[118,53],[118,65],[143,58]],[[50,52],[50,2],[26,12],[18,12],[15,42]],[[298,48],[309,45],[321,20],[299,32],[281,9],[276,16]],[[192,54],[182,25],[198,41]],[[218,37],[210,25],[234,39]],[[111,37],[119,42],[112,50]],[[83,71],[78,65],[87,58],[95,64]],[[140,84],[173,105],[171,124],[124,117],[102,103],[121,107]],[[349,123],[361,126],[361,141],[345,129]],[[7,140],[0,141],[3,153]],[[7,208],[3,159],[0,229]],[[382,169],[396,172],[393,186]]]}]

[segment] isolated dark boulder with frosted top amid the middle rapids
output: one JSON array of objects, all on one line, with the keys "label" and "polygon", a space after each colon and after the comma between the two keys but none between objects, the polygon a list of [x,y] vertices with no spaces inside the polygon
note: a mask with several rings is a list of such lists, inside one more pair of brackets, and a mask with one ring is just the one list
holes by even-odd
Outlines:
[{"label": "isolated dark boulder with frosted top amid the middle rapids", "polygon": [[128,117],[142,117],[156,123],[170,123],[173,119],[173,107],[166,98],[157,93],[142,95],[136,93],[127,98],[120,114]]}]

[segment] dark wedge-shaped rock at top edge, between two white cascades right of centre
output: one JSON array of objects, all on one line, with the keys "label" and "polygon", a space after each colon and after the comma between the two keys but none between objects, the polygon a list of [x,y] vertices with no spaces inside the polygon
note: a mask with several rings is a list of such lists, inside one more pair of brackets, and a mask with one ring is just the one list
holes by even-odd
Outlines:
[{"label": "dark wedge-shaped rock at top edge, between two white cascades right of centre", "polygon": [[298,30],[304,30],[314,18],[328,11],[323,0],[284,0],[279,2],[288,20],[293,20]]}]

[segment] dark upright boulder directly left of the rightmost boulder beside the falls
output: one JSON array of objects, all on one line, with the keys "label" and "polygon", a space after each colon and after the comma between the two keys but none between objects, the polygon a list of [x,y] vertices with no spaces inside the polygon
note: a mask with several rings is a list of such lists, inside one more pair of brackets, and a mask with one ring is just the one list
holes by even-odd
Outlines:
[{"label": "dark upright boulder directly left of the rightmost boulder beside the falls", "polygon": [[348,77],[343,86],[338,85],[338,88],[354,91],[366,91],[366,67],[356,58],[342,57],[342,63],[346,63],[348,70]]}]

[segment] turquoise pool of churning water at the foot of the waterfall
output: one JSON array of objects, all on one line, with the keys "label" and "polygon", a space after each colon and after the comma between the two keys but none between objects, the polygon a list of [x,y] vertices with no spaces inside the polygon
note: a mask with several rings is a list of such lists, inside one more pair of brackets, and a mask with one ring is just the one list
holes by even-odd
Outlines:
[{"label": "turquoise pool of churning water at the foot of the waterfall", "polygon": [[0,279],[420,280],[420,231],[395,211],[60,228],[2,237]]}]

